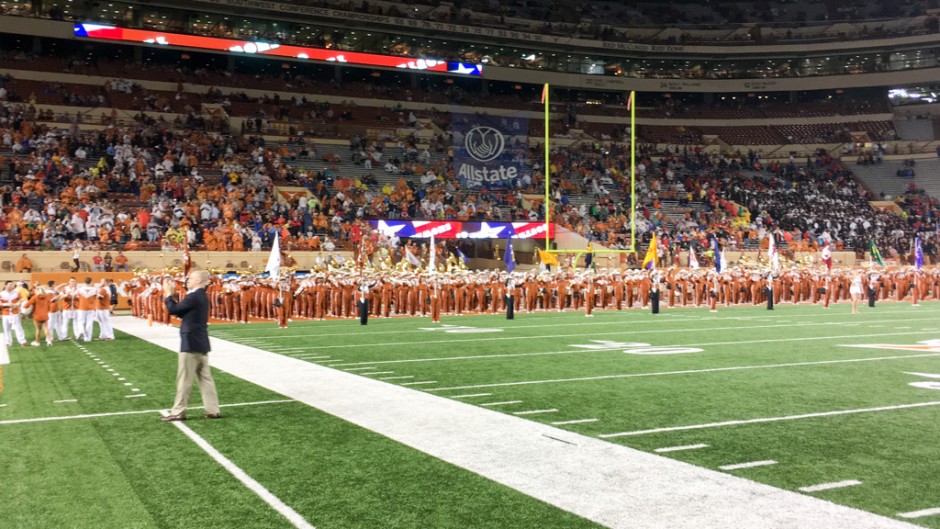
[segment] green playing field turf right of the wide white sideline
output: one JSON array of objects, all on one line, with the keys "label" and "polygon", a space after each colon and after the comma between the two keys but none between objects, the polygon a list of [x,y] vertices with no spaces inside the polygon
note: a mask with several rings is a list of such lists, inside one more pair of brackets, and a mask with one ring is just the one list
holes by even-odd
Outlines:
[{"label": "green playing field turf right of the wide white sideline", "polygon": [[[940,339],[940,305],[879,305],[850,314],[848,305],[674,309],[645,311],[444,317],[423,319],[296,322],[286,331],[271,325],[219,326],[213,334],[282,354],[329,356],[310,360],[369,378],[408,376],[388,383],[436,381],[413,386],[441,397],[491,393],[464,402],[522,401],[490,409],[530,415],[589,436],[713,422],[781,418],[922,402],[940,402],[940,391],[915,388],[930,381],[906,373],[940,374],[940,347],[897,350],[846,347],[916,345]],[[445,326],[496,332],[447,333]],[[625,347],[591,351],[595,341],[700,348],[673,355],[627,354]],[[364,375],[374,366],[381,375]],[[384,372],[392,373],[384,373]],[[842,416],[783,420],[716,428],[606,438],[642,450],[696,443],[708,448],[668,457],[712,469],[776,460],[776,465],[730,473],[789,490],[855,479],[862,485],[807,493],[896,517],[940,506],[932,461],[940,459],[940,406]],[[913,521],[940,528],[940,517]]]}]

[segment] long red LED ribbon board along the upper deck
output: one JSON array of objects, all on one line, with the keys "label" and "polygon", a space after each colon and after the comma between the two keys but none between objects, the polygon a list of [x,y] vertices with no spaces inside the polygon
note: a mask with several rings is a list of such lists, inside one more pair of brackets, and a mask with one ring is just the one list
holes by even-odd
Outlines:
[{"label": "long red LED ribbon board along the upper deck", "polygon": [[161,46],[225,51],[231,53],[244,53],[248,55],[286,57],[290,59],[304,59],[311,61],[341,62],[355,66],[404,68],[406,70],[423,70],[428,72],[452,73],[459,75],[481,75],[483,73],[482,64],[468,64],[428,58],[422,59],[416,57],[399,57],[394,55],[379,55],[377,53],[361,53],[344,50],[328,50],[325,48],[291,46],[286,44],[253,40],[200,37],[198,35],[184,35],[182,33],[167,33],[165,31],[120,28],[117,26],[106,26],[92,23],[75,24],[75,36],[95,40],[131,42],[135,44],[157,44]]}]

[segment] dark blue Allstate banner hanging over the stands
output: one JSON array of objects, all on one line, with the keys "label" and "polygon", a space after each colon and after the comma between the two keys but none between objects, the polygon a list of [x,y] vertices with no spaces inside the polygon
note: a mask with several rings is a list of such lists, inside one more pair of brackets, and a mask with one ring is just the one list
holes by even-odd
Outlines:
[{"label": "dark blue Allstate banner hanging over the stands", "polygon": [[463,188],[514,187],[529,175],[529,120],[519,116],[486,116],[455,112],[454,173]]}]

